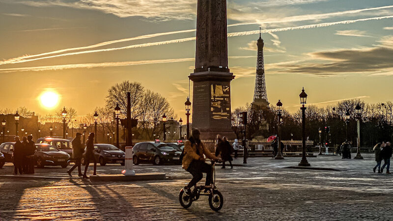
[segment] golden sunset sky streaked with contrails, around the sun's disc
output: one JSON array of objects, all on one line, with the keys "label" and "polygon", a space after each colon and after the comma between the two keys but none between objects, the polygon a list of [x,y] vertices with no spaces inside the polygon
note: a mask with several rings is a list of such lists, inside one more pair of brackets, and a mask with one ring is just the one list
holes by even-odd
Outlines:
[{"label": "golden sunset sky streaked with contrails, around the sun's disc", "polygon": [[[125,80],[161,93],[185,118],[197,0],[0,0],[0,109],[78,114]],[[265,42],[268,100],[296,111],[393,94],[392,0],[228,0],[232,109],[253,101],[256,40]],[[192,89],[192,83],[191,83]],[[39,97],[55,91],[54,110]],[[192,91],[190,92],[192,95]],[[192,96],[191,96],[192,97]]]}]

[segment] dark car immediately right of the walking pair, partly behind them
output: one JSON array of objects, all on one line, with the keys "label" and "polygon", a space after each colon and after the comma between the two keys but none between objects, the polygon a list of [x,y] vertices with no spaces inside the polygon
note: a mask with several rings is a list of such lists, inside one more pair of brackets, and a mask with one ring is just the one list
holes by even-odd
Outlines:
[{"label": "dark car immediately right of the walking pair, partly behind them", "polygon": [[[125,153],[111,144],[94,144],[94,157],[101,166],[106,164],[120,164],[124,166]],[[84,158],[82,158],[82,164],[85,165]]]}]

